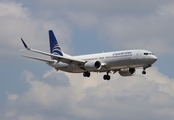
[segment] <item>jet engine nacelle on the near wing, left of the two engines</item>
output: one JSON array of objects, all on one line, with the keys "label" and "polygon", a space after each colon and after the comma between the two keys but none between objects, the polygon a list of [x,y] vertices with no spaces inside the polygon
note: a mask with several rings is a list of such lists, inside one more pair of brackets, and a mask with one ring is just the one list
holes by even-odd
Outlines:
[{"label": "jet engine nacelle on the near wing, left of the two engines", "polygon": [[100,61],[88,61],[85,63],[84,68],[86,70],[100,70],[101,62]]}]

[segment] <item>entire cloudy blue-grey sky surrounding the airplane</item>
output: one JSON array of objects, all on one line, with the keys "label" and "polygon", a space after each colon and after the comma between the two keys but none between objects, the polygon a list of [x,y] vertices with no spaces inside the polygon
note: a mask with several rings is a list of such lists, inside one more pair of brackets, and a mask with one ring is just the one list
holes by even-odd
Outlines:
[{"label": "entire cloudy blue-grey sky surrounding the airplane", "polygon": [[[173,120],[173,0],[1,0],[2,120]],[[70,55],[125,49],[152,51],[158,61],[142,75],[56,71],[21,57],[49,52],[48,30]]]}]

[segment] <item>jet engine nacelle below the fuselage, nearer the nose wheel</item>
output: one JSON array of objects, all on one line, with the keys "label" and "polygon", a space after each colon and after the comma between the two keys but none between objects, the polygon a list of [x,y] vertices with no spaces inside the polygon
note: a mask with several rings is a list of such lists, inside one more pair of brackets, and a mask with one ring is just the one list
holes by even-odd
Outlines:
[{"label": "jet engine nacelle below the fuselage, nearer the nose wheel", "polygon": [[135,73],[135,68],[126,68],[126,69],[121,69],[119,71],[119,74],[121,76],[132,76]]}]

